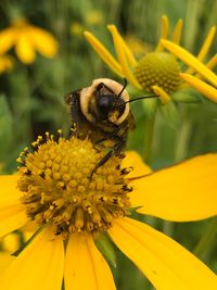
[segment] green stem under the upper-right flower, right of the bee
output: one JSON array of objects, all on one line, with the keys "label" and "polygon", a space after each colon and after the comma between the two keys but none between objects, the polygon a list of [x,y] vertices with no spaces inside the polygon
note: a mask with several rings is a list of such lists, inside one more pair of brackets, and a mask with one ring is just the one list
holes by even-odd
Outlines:
[{"label": "green stem under the upper-right flower, right of the bee", "polygon": [[154,124],[155,124],[155,115],[145,121],[144,125],[144,151],[143,159],[145,163],[151,165],[152,162],[152,144],[153,144],[153,135],[154,135]]}]

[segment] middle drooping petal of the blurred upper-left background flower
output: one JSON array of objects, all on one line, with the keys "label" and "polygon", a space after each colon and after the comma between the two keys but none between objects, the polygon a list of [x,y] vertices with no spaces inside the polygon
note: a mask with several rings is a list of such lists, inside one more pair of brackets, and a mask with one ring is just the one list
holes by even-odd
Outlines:
[{"label": "middle drooping petal of the blurred upper-left background flower", "polygon": [[29,64],[35,61],[36,53],[34,43],[31,42],[31,39],[28,37],[26,33],[22,33],[15,47],[16,54],[18,59],[25,63]]}]

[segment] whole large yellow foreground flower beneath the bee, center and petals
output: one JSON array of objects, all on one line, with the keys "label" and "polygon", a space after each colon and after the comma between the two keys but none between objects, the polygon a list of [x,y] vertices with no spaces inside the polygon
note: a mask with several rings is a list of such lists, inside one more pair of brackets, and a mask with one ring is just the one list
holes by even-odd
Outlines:
[{"label": "whole large yellow foreground flower beneath the bee, center and petals", "polygon": [[[56,140],[56,141],[55,141]],[[0,275],[4,290],[113,290],[94,244],[105,231],[156,289],[217,289],[216,275],[173,239],[132,219],[130,207],[170,220],[217,213],[217,154],[151,174],[135,152],[113,156],[88,140],[47,134],[20,155],[18,174],[0,176],[0,236],[37,224],[30,242]],[[124,160],[122,160],[124,157]],[[120,164],[122,162],[122,164]],[[131,171],[131,167],[133,171]]]}]

